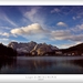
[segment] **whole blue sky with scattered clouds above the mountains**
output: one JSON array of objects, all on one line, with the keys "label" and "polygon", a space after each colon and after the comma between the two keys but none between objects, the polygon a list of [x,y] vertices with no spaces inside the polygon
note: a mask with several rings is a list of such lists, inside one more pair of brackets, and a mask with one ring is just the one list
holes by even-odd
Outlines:
[{"label": "whole blue sky with scattered clouds above the mountains", "polygon": [[60,49],[83,42],[83,6],[0,6],[0,42],[48,43]]}]

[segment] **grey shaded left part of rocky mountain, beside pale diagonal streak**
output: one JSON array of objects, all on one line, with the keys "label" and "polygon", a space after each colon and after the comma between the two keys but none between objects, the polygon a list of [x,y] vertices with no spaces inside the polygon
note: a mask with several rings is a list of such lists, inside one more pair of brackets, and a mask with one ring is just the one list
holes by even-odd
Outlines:
[{"label": "grey shaded left part of rocky mountain, beside pale diagonal streak", "polygon": [[31,41],[28,43],[18,43],[18,42],[10,42],[8,44],[8,46],[17,50],[18,52],[30,52],[34,46],[35,46],[35,42]]}]

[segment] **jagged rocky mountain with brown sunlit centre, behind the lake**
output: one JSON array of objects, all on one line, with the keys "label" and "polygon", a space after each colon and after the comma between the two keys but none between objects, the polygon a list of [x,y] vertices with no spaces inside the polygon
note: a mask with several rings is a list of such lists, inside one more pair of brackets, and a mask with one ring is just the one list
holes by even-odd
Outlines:
[{"label": "jagged rocky mountain with brown sunlit centre, behind the lake", "polygon": [[28,42],[28,43],[18,43],[10,42],[8,46],[18,51],[19,54],[29,53],[32,55],[43,55],[46,52],[52,52],[54,50],[59,50],[56,46],[46,43],[37,43],[37,42]]}]

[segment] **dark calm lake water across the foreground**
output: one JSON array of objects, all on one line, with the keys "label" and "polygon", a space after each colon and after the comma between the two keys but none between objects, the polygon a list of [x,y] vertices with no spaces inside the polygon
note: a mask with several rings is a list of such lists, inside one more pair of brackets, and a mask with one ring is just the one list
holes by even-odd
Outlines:
[{"label": "dark calm lake water across the foreground", "polygon": [[0,60],[2,74],[83,74],[83,56],[18,56]]}]

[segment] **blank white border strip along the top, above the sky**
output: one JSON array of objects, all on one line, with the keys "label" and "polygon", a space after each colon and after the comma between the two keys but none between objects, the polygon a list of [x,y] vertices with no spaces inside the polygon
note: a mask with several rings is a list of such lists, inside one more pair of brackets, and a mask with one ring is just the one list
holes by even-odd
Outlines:
[{"label": "blank white border strip along the top, above the sky", "polygon": [[0,0],[0,6],[83,6],[83,0]]}]

